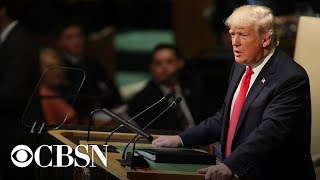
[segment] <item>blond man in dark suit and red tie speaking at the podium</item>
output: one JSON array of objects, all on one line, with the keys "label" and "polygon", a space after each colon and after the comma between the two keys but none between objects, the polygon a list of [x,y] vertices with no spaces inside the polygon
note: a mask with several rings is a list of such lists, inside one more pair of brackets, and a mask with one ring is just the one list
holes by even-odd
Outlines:
[{"label": "blond man in dark suit and red tie speaking at the podium", "polygon": [[235,63],[222,108],[156,146],[220,141],[224,159],[198,170],[206,179],[315,179],[310,157],[311,102],[305,70],[277,46],[274,16],[264,6],[242,6],[226,20]]}]

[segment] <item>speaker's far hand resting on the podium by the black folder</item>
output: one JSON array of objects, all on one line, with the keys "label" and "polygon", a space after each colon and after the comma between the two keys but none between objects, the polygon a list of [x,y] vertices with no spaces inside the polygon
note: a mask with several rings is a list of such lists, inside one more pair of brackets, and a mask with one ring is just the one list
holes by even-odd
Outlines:
[{"label": "speaker's far hand resting on the podium by the black folder", "polygon": [[182,141],[180,136],[160,136],[152,144],[157,147],[180,147],[182,146]]}]

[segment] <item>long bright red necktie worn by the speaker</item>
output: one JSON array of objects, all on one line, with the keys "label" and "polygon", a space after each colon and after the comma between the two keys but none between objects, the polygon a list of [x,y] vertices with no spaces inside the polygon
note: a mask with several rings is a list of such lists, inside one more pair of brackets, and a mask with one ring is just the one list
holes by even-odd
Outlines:
[{"label": "long bright red necktie worn by the speaker", "polygon": [[250,66],[247,66],[246,72],[242,78],[241,86],[239,94],[237,95],[237,98],[233,105],[233,110],[230,117],[229,122],[229,129],[228,129],[228,135],[227,135],[227,144],[226,144],[226,157],[228,157],[231,154],[231,145],[232,140],[234,137],[234,133],[236,131],[236,127],[238,124],[239,116],[241,113],[242,106],[244,104],[244,101],[247,96],[247,92],[250,86],[250,79],[251,75],[253,74],[253,71]]}]

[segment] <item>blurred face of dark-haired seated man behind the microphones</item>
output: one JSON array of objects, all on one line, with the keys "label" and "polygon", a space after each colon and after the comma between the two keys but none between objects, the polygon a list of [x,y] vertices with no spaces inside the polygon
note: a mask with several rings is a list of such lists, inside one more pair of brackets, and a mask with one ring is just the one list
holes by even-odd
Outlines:
[{"label": "blurred face of dark-haired seated man behind the microphones", "polygon": [[174,50],[161,49],[153,55],[151,73],[157,81],[167,83],[175,78],[183,65],[183,60],[177,57]]}]

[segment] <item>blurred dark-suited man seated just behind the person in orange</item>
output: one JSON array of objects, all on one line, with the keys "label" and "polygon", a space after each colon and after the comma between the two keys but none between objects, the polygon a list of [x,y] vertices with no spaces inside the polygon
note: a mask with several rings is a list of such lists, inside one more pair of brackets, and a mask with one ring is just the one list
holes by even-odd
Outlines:
[{"label": "blurred dark-suited man seated just behind the person in orange", "polygon": [[[106,77],[104,69],[96,59],[85,55],[86,40],[84,29],[77,23],[63,23],[57,32],[57,45],[65,65],[86,72],[75,104],[81,123],[85,123],[90,112],[97,108],[114,108],[121,104],[120,93],[113,80]],[[68,73],[67,78],[81,81],[79,77]]]}]

